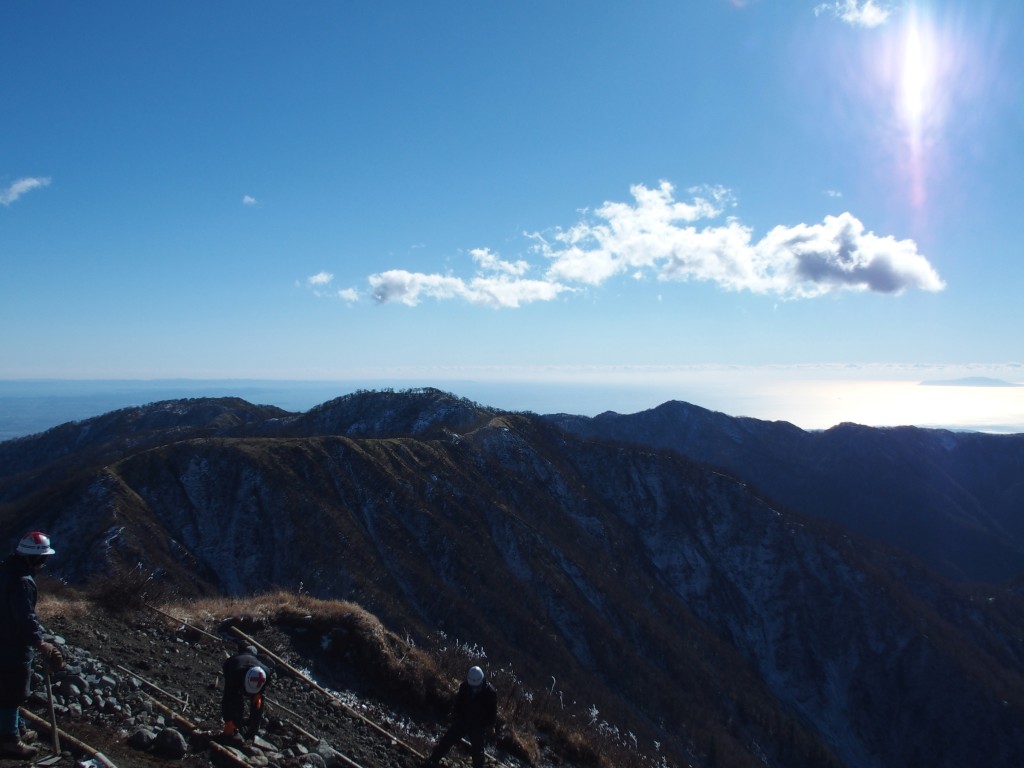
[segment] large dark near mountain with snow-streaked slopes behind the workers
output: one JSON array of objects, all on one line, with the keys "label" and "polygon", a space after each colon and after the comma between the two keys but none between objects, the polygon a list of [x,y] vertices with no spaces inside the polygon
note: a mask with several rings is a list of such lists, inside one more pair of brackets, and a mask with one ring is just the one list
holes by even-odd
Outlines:
[{"label": "large dark near mountain with snow-streaked slopes behind the workers", "polygon": [[[0,443],[36,457],[0,476],[0,519],[67,542],[72,581],[142,563],[186,592],[284,587],[445,631],[674,762],[1010,766],[1024,748],[1013,591],[950,586],[738,473],[434,390],[263,419],[200,404],[56,465],[32,441],[50,433]],[[721,427],[702,440],[751,452],[757,424]]]}]

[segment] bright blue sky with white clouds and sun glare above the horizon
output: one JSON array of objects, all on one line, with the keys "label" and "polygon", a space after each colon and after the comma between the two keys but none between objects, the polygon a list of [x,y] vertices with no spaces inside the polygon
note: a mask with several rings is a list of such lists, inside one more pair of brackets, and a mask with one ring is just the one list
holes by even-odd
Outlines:
[{"label": "bright blue sky with white clouds and sun glare above the horizon", "polygon": [[0,379],[801,426],[762,382],[1024,383],[1022,32],[1006,0],[4,3]]}]

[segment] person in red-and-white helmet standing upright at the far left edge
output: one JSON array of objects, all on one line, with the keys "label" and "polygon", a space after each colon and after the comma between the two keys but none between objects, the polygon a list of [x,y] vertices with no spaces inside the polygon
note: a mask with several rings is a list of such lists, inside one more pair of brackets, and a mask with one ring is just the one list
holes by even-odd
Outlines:
[{"label": "person in red-and-white helmet standing upright at the far left edge", "polygon": [[63,668],[56,646],[43,640],[36,617],[35,574],[54,550],[50,538],[33,531],[0,563],[0,757],[28,760],[39,752],[22,740],[17,708],[31,693],[32,660],[38,650],[50,669]]}]

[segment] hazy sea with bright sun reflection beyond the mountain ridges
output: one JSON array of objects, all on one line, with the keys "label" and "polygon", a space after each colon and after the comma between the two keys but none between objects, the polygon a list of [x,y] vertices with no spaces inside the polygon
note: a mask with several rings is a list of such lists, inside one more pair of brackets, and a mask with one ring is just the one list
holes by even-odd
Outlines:
[{"label": "hazy sea with bright sun reflection beyond the mountain ridges", "polygon": [[683,400],[729,416],[787,421],[803,429],[854,422],[1024,433],[1024,386],[987,378],[912,378],[915,373],[922,372],[871,377],[837,369],[692,368],[595,370],[583,375],[556,371],[543,379],[492,374],[358,381],[8,380],[0,381],[0,440],[165,399],[233,396],[300,413],[359,389],[427,386],[481,406],[538,414],[632,414]]}]

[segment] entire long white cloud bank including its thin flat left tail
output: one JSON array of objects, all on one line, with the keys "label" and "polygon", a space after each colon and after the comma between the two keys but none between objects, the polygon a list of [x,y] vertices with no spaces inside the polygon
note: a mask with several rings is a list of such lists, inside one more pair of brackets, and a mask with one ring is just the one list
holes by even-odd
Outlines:
[{"label": "entire long white cloud bank including its thin flat left tail", "polygon": [[[675,199],[671,183],[632,187],[632,203],[605,203],[567,229],[532,232],[540,265],[507,261],[489,249],[470,252],[472,278],[390,269],[369,278],[381,303],[415,306],[423,298],[463,299],[495,307],[550,301],[614,278],[713,282],[729,291],[804,299],[837,291],[900,294],[945,285],[911,240],[868,231],[851,213],[820,223],[779,225],[759,241],[734,216],[698,226],[735,207],[723,187]],[[544,265],[546,264],[546,268]],[[529,279],[529,271],[540,276]]]}]

